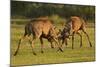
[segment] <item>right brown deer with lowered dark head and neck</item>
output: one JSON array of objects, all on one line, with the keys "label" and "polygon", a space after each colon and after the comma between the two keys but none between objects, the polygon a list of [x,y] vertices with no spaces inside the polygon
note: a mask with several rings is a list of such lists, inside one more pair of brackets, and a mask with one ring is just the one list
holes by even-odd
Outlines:
[{"label": "right brown deer with lowered dark head and neck", "polygon": [[79,33],[79,30],[82,30],[84,32],[84,34],[88,38],[90,47],[92,47],[89,36],[86,32],[85,21],[82,18],[77,17],[77,16],[72,16],[67,21],[63,31],[61,32],[61,36],[59,38],[60,40],[62,40],[62,44],[65,43],[67,45],[67,38],[69,38],[69,36],[72,36],[72,49],[73,49],[74,48],[74,34],[78,34],[80,36],[80,47],[82,47],[82,35]]}]

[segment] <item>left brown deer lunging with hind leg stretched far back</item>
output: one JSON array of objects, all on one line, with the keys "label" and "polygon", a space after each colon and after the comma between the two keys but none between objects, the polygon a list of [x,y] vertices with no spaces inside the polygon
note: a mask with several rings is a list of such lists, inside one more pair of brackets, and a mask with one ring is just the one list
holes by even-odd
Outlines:
[{"label": "left brown deer lunging with hind leg stretched far back", "polygon": [[[26,24],[25,26],[25,33],[24,36],[19,40],[18,43],[18,47],[17,50],[14,53],[14,56],[17,55],[19,48],[20,48],[20,44],[23,41],[23,39],[25,39],[25,37],[28,37],[29,42],[30,42],[30,46],[32,48],[32,52],[34,55],[36,55],[36,53],[34,52],[33,48],[34,48],[34,41],[36,39],[40,39],[41,42],[41,52],[43,53],[43,40],[42,38],[47,38],[49,41],[51,39],[53,39],[53,41],[56,42],[56,44],[58,45],[58,50],[63,51],[60,48],[60,45],[58,43],[57,40],[57,34],[55,32],[55,26],[52,24],[51,20],[48,19],[34,19],[32,21],[30,21],[30,23]],[[30,35],[33,35],[33,38],[30,39]]]}]

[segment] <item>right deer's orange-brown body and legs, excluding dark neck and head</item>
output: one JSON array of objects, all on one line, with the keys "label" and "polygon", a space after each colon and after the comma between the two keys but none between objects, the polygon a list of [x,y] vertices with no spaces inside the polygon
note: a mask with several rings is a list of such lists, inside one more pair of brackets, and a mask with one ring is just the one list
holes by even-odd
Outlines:
[{"label": "right deer's orange-brown body and legs, excluding dark neck and head", "polygon": [[85,21],[80,17],[73,16],[73,17],[71,17],[70,22],[72,23],[72,49],[74,48],[73,46],[74,46],[74,34],[75,33],[80,36],[80,39],[81,39],[80,40],[80,47],[82,47],[82,35],[79,33],[79,30],[82,30],[85,33],[85,35],[88,38],[90,47],[92,47],[89,36],[86,32]]}]

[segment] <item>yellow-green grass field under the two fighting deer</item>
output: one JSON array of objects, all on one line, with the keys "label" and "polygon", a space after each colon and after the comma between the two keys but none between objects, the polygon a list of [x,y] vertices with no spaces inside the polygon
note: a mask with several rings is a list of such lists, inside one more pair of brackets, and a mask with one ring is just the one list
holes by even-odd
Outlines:
[{"label": "yellow-green grass field under the two fighting deer", "polygon": [[44,39],[45,48],[44,53],[40,52],[39,40],[35,43],[35,52],[37,56],[32,54],[31,48],[27,40],[21,44],[21,48],[17,56],[13,56],[19,38],[24,33],[24,25],[11,25],[11,66],[15,65],[35,65],[35,64],[51,64],[51,63],[69,63],[69,62],[83,62],[83,61],[94,61],[95,60],[95,28],[87,28],[90,40],[93,47],[89,47],[89,43],[84,33],[83,36],[83,47],[79,47],[79,36],[75,36],[74,48],[71,49],[71,39],[68,40],[67,48],[64,46],[64,52],[57,52],[57,49],[51,49],[50,44]]}]

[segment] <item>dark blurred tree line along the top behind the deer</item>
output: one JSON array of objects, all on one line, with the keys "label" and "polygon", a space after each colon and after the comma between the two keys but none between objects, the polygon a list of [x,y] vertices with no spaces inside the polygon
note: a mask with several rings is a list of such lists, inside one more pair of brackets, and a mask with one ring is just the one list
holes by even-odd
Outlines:
[{"label": "dark blurred tree line along the top behind the deer", "polygon": [[36,18],[52,15],[62,18],[80,16],[87,20],[94,20],[95,6],[11,1],[11,18]]}]

